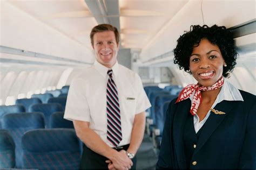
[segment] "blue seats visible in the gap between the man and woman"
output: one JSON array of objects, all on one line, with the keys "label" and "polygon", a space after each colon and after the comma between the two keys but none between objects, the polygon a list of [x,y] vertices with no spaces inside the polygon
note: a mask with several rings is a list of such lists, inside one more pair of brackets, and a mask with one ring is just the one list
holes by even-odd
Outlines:
[{"label": "blue seats visible in the gap between the man and woman", "polygon": [[160,147],[167,108],[170,102],[178,97],[182,89],[177,85],[166,86],[164,89],[158,86],[144,87],[151,103],[151,108],[147,110],[146,130],[147,134],[152,137],[156,148]]}]

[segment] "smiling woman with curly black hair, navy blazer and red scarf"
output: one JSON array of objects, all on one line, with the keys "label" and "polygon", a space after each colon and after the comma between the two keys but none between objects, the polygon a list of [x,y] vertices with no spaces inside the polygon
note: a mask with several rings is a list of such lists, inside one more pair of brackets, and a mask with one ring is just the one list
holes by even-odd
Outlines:
[{"label": "smiling woman with curly black hair, navy blazer and red scarf", "polygon": [[191,26],[174,63],[193,75],[166,113],[157,169],[256,168],[256,98],[224,77],[237,53],[225,26]]}]

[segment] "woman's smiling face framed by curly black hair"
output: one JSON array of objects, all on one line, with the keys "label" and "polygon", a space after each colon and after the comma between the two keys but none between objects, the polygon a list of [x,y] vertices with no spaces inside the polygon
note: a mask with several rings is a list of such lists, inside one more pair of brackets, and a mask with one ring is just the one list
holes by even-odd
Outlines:
[{"label": "woman's smiling face framed by curly black hair", "polygon": [[212,86],[223,74],[226,65],[220,49],[207,39],[201,39],[190,56],[190,71],[200,86]]}]

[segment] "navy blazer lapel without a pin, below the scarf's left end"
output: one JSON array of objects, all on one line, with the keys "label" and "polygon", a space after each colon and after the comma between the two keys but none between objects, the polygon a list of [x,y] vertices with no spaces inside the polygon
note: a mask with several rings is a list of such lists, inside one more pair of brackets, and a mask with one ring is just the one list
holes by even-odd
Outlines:
[{"label": "navy blazer lapel without a pin, below the scarf's left end", "polygon": [[175,148],[174,151],[177,155],[179,168],[183,169],[186,168],[183,130],[187,114],[190,111],[191,101],[190,99],[187,99],[176,104],[178,104],[178,106],[173,119],[173,143]]}]

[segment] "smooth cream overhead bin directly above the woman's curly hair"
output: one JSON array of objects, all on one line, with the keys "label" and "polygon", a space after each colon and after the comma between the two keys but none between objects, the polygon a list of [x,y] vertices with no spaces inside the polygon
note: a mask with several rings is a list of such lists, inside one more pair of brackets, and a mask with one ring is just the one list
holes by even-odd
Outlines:
[{"label": "smooth cream overhead bin directly above the woman's curly hair", "polygon": [[[191,25],[217,24],[230,28],[252,20],[255,20],[255,1],[189,1],[142,49],[140,59],[144,64],[152,59],[166,62],[163,58],[169,57],[169,61],[172,60],[170,56],[177,39],[189,31]],[[164,54],[170,55],[161,57]]]}]

